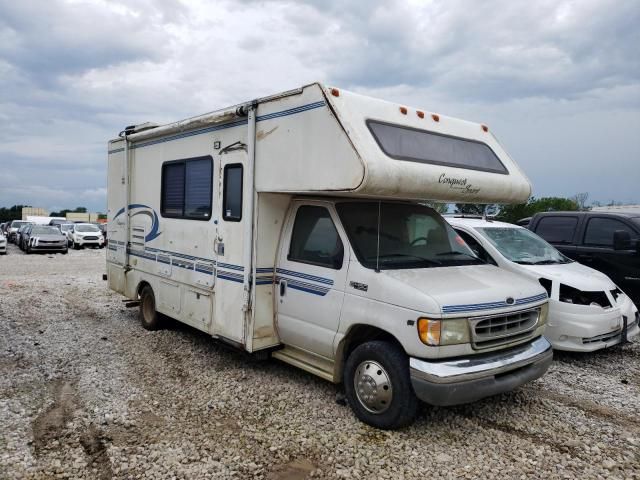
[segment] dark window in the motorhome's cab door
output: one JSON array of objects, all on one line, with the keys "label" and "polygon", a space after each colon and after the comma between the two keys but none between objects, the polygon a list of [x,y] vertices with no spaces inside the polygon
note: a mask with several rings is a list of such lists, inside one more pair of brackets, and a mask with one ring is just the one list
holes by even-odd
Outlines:
[{"label": "dark window in the motorhome's cab door", "polygon": [[287,258],[339,270],[343,257],[342,240],[329,211],[311,205],[298,208]]}]

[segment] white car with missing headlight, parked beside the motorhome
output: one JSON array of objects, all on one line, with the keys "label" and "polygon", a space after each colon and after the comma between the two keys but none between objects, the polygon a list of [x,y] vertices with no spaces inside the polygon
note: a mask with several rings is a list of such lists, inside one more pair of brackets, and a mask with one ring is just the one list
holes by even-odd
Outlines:
[{"label": "white car with missing headlight, parked beside the motorhome", "polygon": [[554,349],[590,352],[640,333],[638,309],[609,277],[574,262],[530,230],[473,218],[447,221],[480,258],[535,278],[547,290],[544,336]]}]

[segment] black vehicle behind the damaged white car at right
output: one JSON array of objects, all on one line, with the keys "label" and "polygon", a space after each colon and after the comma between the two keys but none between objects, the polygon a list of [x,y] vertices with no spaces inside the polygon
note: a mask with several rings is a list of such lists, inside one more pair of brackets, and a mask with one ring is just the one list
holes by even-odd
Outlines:
[{"label": "black vehicle behind the damaged white car at right", "polygon": [[613,212],[545,212],[529,230],[567,257],[600,270],[640,306],[640,215]]}]

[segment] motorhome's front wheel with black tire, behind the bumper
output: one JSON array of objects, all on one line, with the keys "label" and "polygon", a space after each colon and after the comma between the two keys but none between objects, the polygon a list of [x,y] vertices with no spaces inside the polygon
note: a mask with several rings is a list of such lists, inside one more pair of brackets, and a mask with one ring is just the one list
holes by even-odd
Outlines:
[{"label": "motorhome's front wheel with black tire, behind the bumper", "polygon": [[[377,369],[376,365],[382,368]],[[367,373],[370,367],[376,369],[371,370],[371,375]],[[356,391],[355,378],[368,390]],[[385,386],[389,388],[383,391]],[[418,398],[409,378],[409,358],[391,342],[375,340],[356,347],[344,367],[344,387],[356,417],[372,427],[383,430],[406,427],[418,412]],[[391,392],[385,393],[389,389]],[[367,398],[368,393],[372,394],[369,400],[374,398],[369,407],[359,398],[361,394]]]}]

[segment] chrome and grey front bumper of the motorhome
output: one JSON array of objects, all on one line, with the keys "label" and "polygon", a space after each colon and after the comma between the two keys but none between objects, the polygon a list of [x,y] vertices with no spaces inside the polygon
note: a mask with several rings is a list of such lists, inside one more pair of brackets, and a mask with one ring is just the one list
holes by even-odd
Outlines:
[{"label": "chrome and grey front bumper of the motorhome", "polygon": [[409,367],[418,398],[446,406],[513,390],[541,377],[552,360],[551,344],[538,337],[526,345],[456,360],[410,358]]}]

